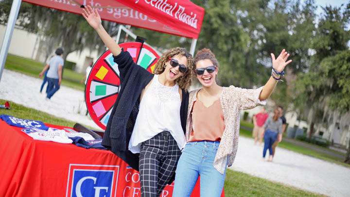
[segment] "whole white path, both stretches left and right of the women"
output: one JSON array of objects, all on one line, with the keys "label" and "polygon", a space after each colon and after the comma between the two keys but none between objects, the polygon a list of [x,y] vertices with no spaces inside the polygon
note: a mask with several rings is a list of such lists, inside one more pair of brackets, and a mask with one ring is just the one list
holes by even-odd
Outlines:
[{"label": "whole white path, both stretches left and right of the women", "polygon": [[[41,83],[42,79],[4,70],[0,98],[98,128],[85,116],[83,91],[61,86],[51,100],[46,101],[45,94],[39,93]],[[279,147],[273,162],[262,161],[262,146],[253,145],[249,138],[239,140],[236,160],[230,169],[327,196],[350,194],[350,168]]]}]

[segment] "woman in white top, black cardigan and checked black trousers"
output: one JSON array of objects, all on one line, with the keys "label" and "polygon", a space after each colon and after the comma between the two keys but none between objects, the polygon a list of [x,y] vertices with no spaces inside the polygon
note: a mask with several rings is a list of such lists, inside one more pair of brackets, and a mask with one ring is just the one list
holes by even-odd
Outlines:
[{"label": "woman in white top, black cardigan and checked black trousers", "polygon": [[142,197],[158,197],[173,182],[186,144],[192,55],[184,48],[170,49],[159,58],[152,74],[135,64],[106,33],[97,9],[87,6],[83,16],[113,54],[120,72],[119,95],[102,144],[140,171]]}]

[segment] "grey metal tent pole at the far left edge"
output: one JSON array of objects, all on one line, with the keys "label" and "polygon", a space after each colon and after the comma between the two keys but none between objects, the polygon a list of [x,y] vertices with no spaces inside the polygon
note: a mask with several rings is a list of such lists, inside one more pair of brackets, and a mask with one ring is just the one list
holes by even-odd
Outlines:
[{"label": "grey metal tent pole at the far left edge", "polygon": [[6,57],[7,57],[8,49],[10,47],[11,37],[12,37],[13,30],[15,28],[21,2],[22,0],[14,0],[12,2],[10,16],[7,21],[7,27],[6,27],[6,31],[2,41],[1,51],[0,51],[0,81],[1,81],[2,71],[5,67]]}]

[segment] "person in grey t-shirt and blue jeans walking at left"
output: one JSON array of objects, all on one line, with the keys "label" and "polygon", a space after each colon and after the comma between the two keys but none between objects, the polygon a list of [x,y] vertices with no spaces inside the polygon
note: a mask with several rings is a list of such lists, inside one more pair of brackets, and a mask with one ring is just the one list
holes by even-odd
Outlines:
[{"label": "person in grey t-shirt and blue jeans walking at left", "polygon": [[60,85],[62,83],[62,71],[63,71],[63,50],[58,48],[55,52],[55,56],[53,56],[49,64],[45,66],[45,68],[40,72],[39,76],[41,77],[44,72],[47,72],[47,79],[48,79],[48,87],[47,87],[47,99],[51,99],[53,94],[59,90]]}]

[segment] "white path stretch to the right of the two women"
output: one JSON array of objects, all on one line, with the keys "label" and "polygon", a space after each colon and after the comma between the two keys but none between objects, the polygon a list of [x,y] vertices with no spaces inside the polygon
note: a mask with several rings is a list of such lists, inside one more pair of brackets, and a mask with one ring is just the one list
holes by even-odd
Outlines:
[{"label": "white path stretch to the right of the two women", "polygon": [[273,162],[262,161],[262,149],[253,139],[240,137],[230,169],[326,196],[349,197],[350,168],[279,147]]}]

